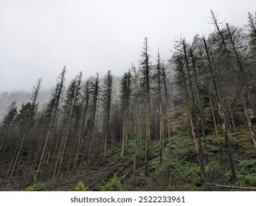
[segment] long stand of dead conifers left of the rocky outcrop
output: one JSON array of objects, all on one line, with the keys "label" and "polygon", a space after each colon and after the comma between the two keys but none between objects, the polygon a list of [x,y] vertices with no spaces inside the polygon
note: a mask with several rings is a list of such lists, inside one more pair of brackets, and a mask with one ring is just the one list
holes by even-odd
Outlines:
[{"label": "long stand of dead conifers left of the rocky outcrop", "polygon": [[[89,173],[92,163],[104,164],[108,150],[119,144],[122,157],[128,152],[128,142],[134,143],[134,173],[136,148],[145,147],[145,174],[148,175],[151,135],[151,100],[158,106],[159,157],[162,160],[162,93],[167,105],[167,67],[157,54],[152,65],[148,38],[142,47],[139,69],[134,64],[120,79],[120,90],[114,88],[111,71],[101,79],[84,81],[82,72],[66,88],[66,67],[57,78],[49,102],[38,109],[41,79],[32,91],[31,101],[17,110],[13,102],[1,124],[1,157],[7,157],[4,177],[8,183],[20,176],[22,181],[38,181],[61,173]],[[153,95],[153,96],[151,96]],[[165,108],[167,111],[167,107]],[[159,117],[158,117],[159,116]],[[145,121],[144,121],[145,120]],[[144,135],[145,134],[145,135]],[[168,126],[170,138],[170,128]],[[142,142],[145,141],[143,145]]]}]

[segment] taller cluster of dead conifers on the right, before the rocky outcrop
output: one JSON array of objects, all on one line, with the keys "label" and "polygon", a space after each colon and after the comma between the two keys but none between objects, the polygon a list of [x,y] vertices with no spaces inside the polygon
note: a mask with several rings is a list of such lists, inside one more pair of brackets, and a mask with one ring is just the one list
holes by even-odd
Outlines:
[{"label": "taller cluster of dead conifers on the right, before the rocky outcrop", "polygon": [[255,76],[256,15],[249,13],[247,31],[219,22],[212,11],[210,18],[214,31],[208,37],[196,35],[192,45],[182,37],[176,39],[172,60],[176,77],[184,88],[190,133],[201,166],[201,176],[205,176],[204,163],[207,163],[205,108],[210,107],[219,152],[222,155],[218,131],[218,124],[221,124],[232,180],[235,182],[232,146],[229,143],[229,133],[237,131],[234,109],[243,110],[256,149],[252,125],[256,112],[255,81],[252,78]]}]

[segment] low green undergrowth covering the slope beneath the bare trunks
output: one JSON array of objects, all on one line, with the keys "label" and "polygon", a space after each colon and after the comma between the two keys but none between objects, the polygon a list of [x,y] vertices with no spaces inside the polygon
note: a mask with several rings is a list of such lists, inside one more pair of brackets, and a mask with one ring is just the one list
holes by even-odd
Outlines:
[{"label": "low green undergrowth covering the slope beneath the bare trunks", "polygon": [[[137,141],[136,173],[134,176],[134,140],[128,141],[128,150],[120,146],[108,150],[104,168],[122,165],[109,171],[80,177],[63,175],[61,182],[38,182],[27,191],[223,191],[218,185],[233,185],[224,137],[220,134],[222,157],[215,135],[207,135],[207,158],[204,156],[206,177],[201,177],[193,140],[185,132],[171,135],[169,151],[167,138],[163,140],[162,162],[159,141],[151,139],[148,177],[145,176],[145,139]],[[235,160],[237,186],[256,186],[255,149],[248,132],[229,135]],[[204,146],[204,144],[203,144]],[[208,162],[206,161],[208,160]],[[226,189],[228,190],[228,189]]]}]

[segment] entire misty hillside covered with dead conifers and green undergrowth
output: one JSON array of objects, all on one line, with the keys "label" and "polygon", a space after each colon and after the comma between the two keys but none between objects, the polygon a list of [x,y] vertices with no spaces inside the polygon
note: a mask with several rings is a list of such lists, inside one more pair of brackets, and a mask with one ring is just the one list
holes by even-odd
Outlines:
[{"label": "entire misty hillside covered with dead conifers and green undergrowth", "polygon": [[144,38],[120,78],[66,82],[64,66],[44,107],[38,79],[1,121],[1,191],[255,190],[256,13],[217,17],[207,38],[176,38],[169,65]]}]

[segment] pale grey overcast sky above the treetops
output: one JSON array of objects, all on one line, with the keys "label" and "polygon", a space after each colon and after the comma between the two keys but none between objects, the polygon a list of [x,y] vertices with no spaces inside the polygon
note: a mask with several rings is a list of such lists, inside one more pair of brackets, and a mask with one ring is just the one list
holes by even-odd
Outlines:
[{"label": "pale grey overcast sky above the treetops", "polygon": [[221,20],[243,26],[255,13],[255,0],[0,0],[0,93],[55,86],[63,65],[67,81],[110,69],[121,76],[138,64],[148,37],[151,56],[159,48],[171,57],[173,40],[207,35],[210,10]]}]

